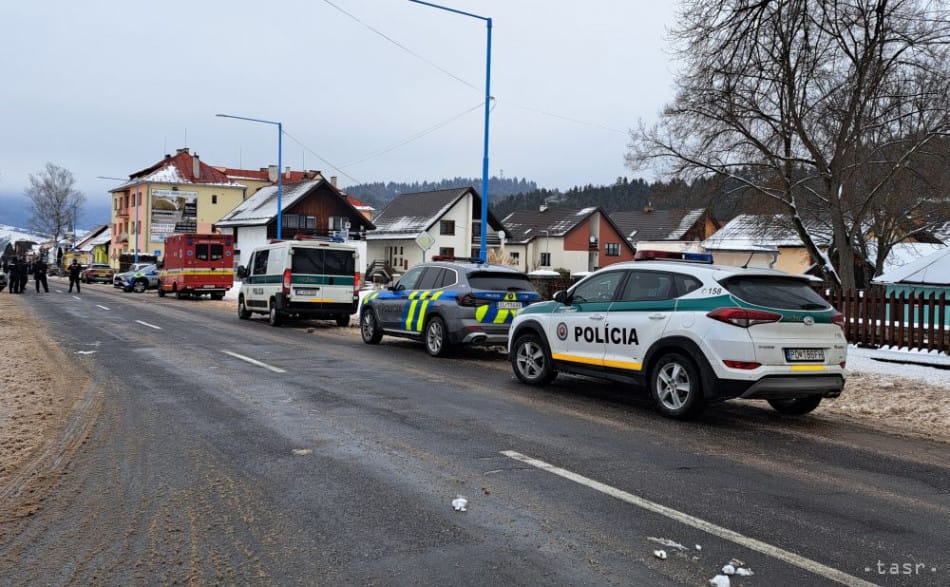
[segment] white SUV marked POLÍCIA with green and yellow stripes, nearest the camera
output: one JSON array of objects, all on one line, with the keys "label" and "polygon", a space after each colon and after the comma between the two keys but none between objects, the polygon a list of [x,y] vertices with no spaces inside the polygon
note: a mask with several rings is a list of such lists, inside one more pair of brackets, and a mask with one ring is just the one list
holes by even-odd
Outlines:
[{"label": "white SUV marked POL\u00cdCIA with green and yellow stripes, nearest the camera", "polygon": [[808,277],[716,266],[705,254],[635,258],[518,314],[508,350],[519,380],[565,372],[634,383],[673,418],[730,398],[805,414],[841,394],[842,315]]}]

